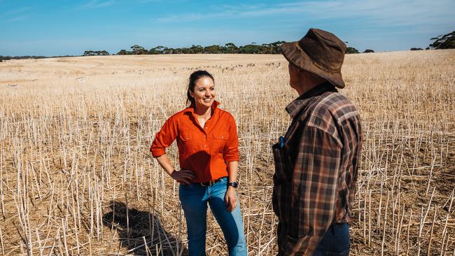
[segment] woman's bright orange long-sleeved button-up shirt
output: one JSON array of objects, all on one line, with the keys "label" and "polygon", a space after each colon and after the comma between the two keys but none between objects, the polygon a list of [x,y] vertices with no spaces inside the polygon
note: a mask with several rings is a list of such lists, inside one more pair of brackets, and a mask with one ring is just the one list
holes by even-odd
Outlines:
[{"label": "woman's bright orange long-sleeved button-up shirt", "polygon": [[239,161],[239,139],[232,115],[212,104],[212,115],[200,127],[193,106],[172,115],[155,135],[153,157],[165,155],[165,149],[177,139],[180,168],[196,174],[194,183],[228,176],[227,162]]}]

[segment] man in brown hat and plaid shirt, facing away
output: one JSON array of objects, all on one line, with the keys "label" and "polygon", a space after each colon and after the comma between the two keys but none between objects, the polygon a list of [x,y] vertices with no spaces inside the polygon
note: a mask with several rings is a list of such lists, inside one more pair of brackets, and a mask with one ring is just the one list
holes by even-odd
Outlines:
[{"label": "man in brown hat and plaid shirt, facing away", "polygon": [[273,146],[279,255],[349,255],[363,136],[356,108],[335,88],[344,87],[345,50],[321,29],[281,46],[300,97],[286,107],[293,120]]}]

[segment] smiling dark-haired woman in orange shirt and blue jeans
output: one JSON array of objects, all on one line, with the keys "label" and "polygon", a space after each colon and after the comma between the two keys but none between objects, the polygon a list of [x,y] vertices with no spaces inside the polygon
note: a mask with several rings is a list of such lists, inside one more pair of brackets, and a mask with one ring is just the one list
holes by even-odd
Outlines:
[{"label": "smiling dark-haired woman in orange shirt and blue jeans", "polygon": [[[180,183],[179,198],[188,226],[190,256],[205,255],[207,203],[223,230],[229,255],[246,255],[238,185],[237,127],[230,113],[217,108],[214,77],[195,71],[188,84],[190,106],[172,115],[155,135],[151,152],[163,169]],[[177,139],[180,171],[165,148]]]}]

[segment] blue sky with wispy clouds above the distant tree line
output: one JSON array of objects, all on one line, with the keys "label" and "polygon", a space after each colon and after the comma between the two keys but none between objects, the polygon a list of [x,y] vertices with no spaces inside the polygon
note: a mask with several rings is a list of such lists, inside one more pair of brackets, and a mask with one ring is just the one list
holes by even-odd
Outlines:
[{"label": "blue sky with wispy clouds above the distant tree line", "polygon": [[0,55],[297,41],[310,27],[360,51],[425,48],[455,30],[455,0],[0,0]]}]

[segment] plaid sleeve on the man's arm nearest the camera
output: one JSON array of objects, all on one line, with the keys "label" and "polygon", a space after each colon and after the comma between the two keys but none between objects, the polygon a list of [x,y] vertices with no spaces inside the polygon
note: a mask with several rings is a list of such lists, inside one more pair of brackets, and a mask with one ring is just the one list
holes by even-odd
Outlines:
[{"label": "plaid sleeve on the man's arm nearest the camera", "polygon": [[341,155],[330,134],[304,127],[293,169],[284,255],[312,255],[335,218]]}]

